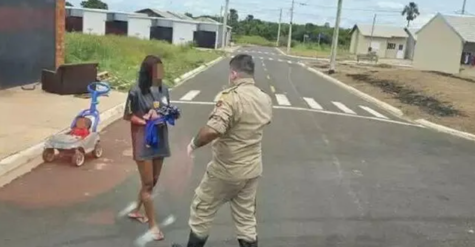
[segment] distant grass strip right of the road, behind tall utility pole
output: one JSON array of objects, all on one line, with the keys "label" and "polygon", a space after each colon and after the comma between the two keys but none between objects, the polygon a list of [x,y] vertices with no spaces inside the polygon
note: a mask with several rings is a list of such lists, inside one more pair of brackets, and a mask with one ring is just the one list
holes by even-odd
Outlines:
[{"label": "distant grass strip right of the road, behind tall utility pole", "polygon": [[[281,48],[282,51],[286,51],[285,47]],[[327,44],[318,43],[297,43],[290,49],[290,55],[302,56],[302,57],[318,57],[318,58],[330,58],[332,52],[332,46]],[[338,47],[336,53],[337,59],[348,59],[351,55],[346,47]]]}]

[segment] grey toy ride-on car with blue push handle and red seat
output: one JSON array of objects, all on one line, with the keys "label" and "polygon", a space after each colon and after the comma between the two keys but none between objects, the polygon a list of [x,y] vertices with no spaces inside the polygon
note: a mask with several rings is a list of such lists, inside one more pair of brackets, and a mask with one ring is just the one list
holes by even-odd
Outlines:
[{"label": "grey toy ride-on car with blue push handle and red seat", "polygon": [[[100,90],[99,90],[100,88]],[[93,82],[88,85],[91,93],[91,106],[80,112],[71,123],[71,130],[66,133],[56,134],[47,139],[43,151],[43,160],[47,163],[54,161],[55,150],[60,156],[70,156],[74,165],[81,166],[85,162],[86,154],[92,153],[95,158],[102,156],[99,132],[99,111],[96,106],[97,98],[110,91],[105,82]]]}]

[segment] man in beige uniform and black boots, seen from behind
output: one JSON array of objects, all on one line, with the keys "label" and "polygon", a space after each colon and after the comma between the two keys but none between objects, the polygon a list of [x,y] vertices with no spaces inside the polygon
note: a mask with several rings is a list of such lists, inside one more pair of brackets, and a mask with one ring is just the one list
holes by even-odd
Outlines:
[{"label": "man in beige uniform and black boots, seen from behind", "polygon": [[[211,141],[213,158],[190,206],[187,247],[203,247],[220,206],[230,203],[240,247],[257,247],[256,190],[262,173],[262,133],[272,119],[272,100],[254,83],[254,61],[239,54],[230,62],[230,87],[188,154]],[[178,245],[175,245],[178,247]]]}]

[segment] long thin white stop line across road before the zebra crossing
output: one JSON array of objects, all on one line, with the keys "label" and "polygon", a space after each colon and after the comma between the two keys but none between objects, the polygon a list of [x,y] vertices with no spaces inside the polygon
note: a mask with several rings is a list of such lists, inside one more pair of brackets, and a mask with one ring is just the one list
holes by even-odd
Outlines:
[{"label": "long thin white stop line across road before the zebra crossing", "polygon": [[[170,102],[173,103],[173,104],[188,104],[188,105],[215,105],[216,104],[214,102],[205,102],[205,101],[171,100]],[[352,118],[357,118],[357,119],[368,119],[368,120],[374,120],[374,121],[378,121],[378,122],[385,122],[385,123],[401,124],[401,125],[407,125],[407,126],[426,128],[426,126],[424,126],[422,124],[411,124],[411,123],[406,123],[406,122],[401,122],[401,121],[396,121],[396,120],[390,120],[390,119],[381,119],[381,118],[375,118],[375,117],[360,116],[360,115],[346,114],[346,113],[340,113],[340,112],[331,112],[331,111],[310,109],[310,108],[304,108],[304,107],[273,106],[273,108],[274,109],[282,109],[282,110],[301,111],[301,112],[315,112],[315,113],[322,113],[322,114],[328,114],[328,115],[352,117]]]}]

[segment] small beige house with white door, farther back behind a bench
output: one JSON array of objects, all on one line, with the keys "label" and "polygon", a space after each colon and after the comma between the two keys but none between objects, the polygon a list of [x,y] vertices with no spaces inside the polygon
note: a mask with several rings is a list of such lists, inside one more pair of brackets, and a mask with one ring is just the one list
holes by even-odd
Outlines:
[{"label": "small beige house with white door, farther back behind a bench", "polygon": [[350,34],[353,54],[366,54],[371,46],[380,58],[405,57],[408,34],[402,27],[356,24]]}]

